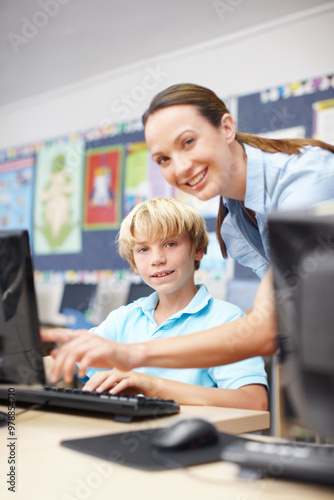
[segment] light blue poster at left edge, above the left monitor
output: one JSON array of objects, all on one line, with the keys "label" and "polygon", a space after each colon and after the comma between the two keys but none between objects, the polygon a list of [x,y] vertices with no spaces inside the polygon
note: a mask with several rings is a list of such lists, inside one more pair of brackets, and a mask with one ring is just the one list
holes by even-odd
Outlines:
[{"label": "light blue poster at left edge, above the left monitor", "polygon": [[31,234],[35,156],[0,164],[0,229]]}]

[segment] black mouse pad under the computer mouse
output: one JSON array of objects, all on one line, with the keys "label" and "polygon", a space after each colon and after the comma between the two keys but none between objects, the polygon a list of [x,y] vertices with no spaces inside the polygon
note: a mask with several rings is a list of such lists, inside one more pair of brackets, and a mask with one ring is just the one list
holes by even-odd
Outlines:
[{"label": "black mouse pad under the computer mouse", "polygon": [[220,432],[219,441],[214,445],[195,450],[162,450],[151,445],[151,437],[158,430],[143,429],[72,439],[62,441],[61,445],[120,465],[142,470],[161,471],[218,462],[221,460],[224,446],[244,439]]}]

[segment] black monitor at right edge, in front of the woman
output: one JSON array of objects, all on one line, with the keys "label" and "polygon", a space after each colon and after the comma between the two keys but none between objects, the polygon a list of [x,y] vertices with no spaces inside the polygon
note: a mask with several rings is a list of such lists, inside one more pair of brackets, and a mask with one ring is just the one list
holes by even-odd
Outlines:
[{"label": "black monitor at right edge, in front of the woman", "polygon": [[[310,210],[276,212],[268,217],[268,231],[283,385],[294,417],[300,425],[326,438],[332,438],[334,406],[330,401],[330,392],[334,372],[321,373],[322,367],[316,373],[317,370],[305,360],[303,315],[306,304],[303,294],[305,287],[312,287],[312,272],[317,273],[321,269],[320,260],[323,263],[326,257],[334,266],[334,215],[319,216]],[[305,262],[310,254],[313,259],[318,256],[319,266],[314,264],[313,268],[309,267],[309,275],[306,276],[302,271],[307,269]],[[314,314],[318,314],[317,300],[319,301],[319,297],[314,297]],[[334,308],[329,302],[326,307],[327,319],[332,318]],[[318,323],[320,328],[321,317]],[[333,349],[333,343],[326,342],[322,347]],[[321,380],[323,375],[327,387],[321,396],[323,399],[319,400],[320,394],[315,397],[316,391],[311,387],[310,380],[313,378],[315,381],[316,377]]]}]

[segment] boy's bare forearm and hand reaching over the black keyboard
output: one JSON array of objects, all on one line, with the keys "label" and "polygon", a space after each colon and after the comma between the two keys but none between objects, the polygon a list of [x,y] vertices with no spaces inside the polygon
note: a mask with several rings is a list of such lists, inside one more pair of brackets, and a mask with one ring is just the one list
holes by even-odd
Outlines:
[{"label": "boy's bare forearm and hand reaching over the black keyboard", "polygon": [[267,392],[263,385],[250,384],[239,389],[220,389],[176,382],[135,371],[108,370],[98,372],[86,383],[84,390],[144,394],[148,397],[173,399],[183,405],[221,406],[265,411]]}]

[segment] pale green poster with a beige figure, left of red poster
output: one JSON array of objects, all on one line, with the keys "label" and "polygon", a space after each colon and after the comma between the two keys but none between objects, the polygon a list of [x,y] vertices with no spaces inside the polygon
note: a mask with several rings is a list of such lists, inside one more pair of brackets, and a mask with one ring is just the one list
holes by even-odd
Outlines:
[{"label": "pale green poster with a beige figure, left of red poster", "polygon": [[37,155],[34,210],[36,255],[82,249],[84,142],[45,145]]}]

